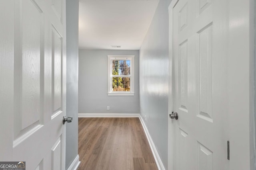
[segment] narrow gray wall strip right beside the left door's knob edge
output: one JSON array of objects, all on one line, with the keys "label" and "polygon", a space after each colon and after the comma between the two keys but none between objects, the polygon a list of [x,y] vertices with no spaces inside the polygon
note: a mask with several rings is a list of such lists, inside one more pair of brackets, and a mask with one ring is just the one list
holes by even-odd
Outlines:
[{"label": "narrow gray wall strip right beside the left door's knob edge", "polygon": [[66,0],[67,29],[67,116],[66,169],[78,155],[78,0]]}]

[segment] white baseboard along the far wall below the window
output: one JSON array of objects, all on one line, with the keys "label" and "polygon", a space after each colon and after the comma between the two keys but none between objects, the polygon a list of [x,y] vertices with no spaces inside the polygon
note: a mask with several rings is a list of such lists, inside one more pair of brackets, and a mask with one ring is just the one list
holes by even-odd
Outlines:
[{"label": "white baseboard along the far wall below the window", "polygon": [[139,117],[139,113],[78,113],[78,117]]}]

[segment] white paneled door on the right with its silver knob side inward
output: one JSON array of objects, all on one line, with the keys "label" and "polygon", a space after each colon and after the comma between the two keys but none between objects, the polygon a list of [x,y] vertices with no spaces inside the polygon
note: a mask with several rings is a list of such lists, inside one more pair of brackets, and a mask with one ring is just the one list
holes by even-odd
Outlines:
[{"label": "white paneled door on the right with its silver knob side inward", "polygon": [[170,5],[174,170],[228,170],[228,1]]}]

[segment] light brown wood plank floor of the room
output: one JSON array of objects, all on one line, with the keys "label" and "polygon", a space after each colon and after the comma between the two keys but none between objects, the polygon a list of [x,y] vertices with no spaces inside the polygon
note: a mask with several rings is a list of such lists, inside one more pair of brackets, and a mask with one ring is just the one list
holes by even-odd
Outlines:
[{"label": "light brown wood plank floor of the room", "polygon": [[79,118],[78,170],[157,170],[140,119]]}]

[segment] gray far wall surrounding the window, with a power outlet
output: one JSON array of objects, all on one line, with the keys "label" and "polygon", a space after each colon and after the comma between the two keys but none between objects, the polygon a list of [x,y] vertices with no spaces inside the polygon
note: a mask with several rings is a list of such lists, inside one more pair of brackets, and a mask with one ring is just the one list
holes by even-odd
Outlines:
[{"label": "gray far wall surrounding the window, with a power outlet", "polygon": [[[108,96],[108,55],[135,55],[134,96]],[[139,113],[138,50],[79,50],[78,72],[79,113]]]}]

